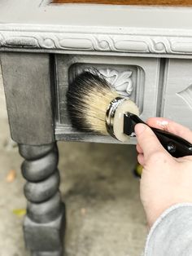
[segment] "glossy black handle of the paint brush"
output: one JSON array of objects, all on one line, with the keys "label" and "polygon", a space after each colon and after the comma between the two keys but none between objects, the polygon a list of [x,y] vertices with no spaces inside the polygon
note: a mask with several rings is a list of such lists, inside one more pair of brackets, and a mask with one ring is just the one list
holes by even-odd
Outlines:
[{"label": "glossy black handle of the paint brush", "polygon": [[[137,123],[146,124],[142,119],[137,117],[137,115],[134,115],[133,113],[125,113],[124,134],[131,135],[134,132],[134,126]],[[151,130],[154,131],[159,142],[172,155],[172,157],[192,156],[192,144],[187,140],[165,130],[159,130],[153,127],[151,127]]]}]

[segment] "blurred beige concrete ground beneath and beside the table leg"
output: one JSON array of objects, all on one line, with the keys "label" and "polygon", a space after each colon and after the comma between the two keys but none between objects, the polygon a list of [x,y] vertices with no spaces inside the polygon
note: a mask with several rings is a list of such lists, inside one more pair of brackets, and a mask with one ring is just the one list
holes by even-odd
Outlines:
[{"label": "blurred beige concrete ground beneath and beside the table leg", "polygon": [[[134,146],[59,143],[60,190],[67,206],[66,256],[139,256],[146,220]],[[11,142],[0,73],[0,256],[27,256],[21,157]]]}]

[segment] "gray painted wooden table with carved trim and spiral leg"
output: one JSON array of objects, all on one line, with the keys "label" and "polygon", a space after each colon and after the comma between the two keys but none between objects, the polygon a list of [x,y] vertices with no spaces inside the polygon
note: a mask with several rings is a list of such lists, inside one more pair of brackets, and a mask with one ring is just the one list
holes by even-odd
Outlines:
[{"label": "gray painted wooden table with carved trim and spiral leg", "polygon": [[118,143],[72,129],[68,83],[98,68],[144,120],[164,116],[192,128],[191,21],[190,7],[0,2],[2,77],[11,137],[24,157],[24,237],[33,256],[63,254],[56,141]]}]

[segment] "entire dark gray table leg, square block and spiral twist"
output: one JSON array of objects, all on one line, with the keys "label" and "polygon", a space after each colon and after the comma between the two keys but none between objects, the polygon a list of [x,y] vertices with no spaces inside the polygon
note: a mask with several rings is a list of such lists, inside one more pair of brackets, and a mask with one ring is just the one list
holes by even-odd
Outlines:
[{"label": "entire dark gray table leg, square block and spiral twist", "polygon": [[25,159],[25,243],[33,256],[61,256],[65,215],[55,143],[54,60],[29,52],[1,52],[0,57],[11,138]]}]

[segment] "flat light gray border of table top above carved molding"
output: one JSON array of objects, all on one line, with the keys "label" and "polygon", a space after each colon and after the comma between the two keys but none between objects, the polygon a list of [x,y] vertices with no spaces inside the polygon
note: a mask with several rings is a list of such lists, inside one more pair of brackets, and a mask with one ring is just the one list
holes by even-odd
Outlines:
[{"label": "flat light gray border of table top above carved molding", "polygon": [[49,0],[0,1],[0,24],[192,29],[191,17],[192,7],[53,4]]}]

